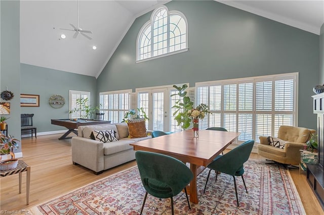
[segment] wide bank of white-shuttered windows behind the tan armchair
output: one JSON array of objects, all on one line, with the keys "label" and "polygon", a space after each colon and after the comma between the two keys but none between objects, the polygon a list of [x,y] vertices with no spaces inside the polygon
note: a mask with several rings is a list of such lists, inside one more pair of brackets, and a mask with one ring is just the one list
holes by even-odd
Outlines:
[{"label": "wide bank of white-shuttered windows behind the tan armchair", "polygon": [[196,83],[196,103],[210,106],[200,129],[224,127],[238,140],[275,136],[281,125],[297,126],[298,73]]}]

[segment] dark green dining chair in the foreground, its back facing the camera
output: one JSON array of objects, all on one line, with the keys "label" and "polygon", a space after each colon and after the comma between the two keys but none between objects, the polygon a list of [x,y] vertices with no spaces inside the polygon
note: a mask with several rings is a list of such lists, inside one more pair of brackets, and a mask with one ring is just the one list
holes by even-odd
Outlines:
[{"label": "dark green dining chair in the foreground, its back facing the camera", "polygon": [[171,198],[171,211],[174,214],[173,196],[178,195],[183,189],[191,209],[186,186],[192,180],[193,174],[185,164],[174,157],[148,151],[136,151],[135,157],[146,190],[141,214],[147,193],[157,198]]}]

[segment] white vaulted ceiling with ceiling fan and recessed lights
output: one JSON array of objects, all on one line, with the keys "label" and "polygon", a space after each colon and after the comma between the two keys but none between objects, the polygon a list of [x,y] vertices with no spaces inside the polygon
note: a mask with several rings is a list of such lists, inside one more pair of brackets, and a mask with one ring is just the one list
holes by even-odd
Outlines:
[{"label": "white vaulted ceiling with ceiling fan and recessed lights", "polygon": [[[20,1],[20,61],[98,77],[134,20],[168,2]],[[218,2],[315,34],[324,23],[324,0]],[[61,29],[72,29],[70,23],[77,27],[78,17],[79,27],[92,31],[86,33],[91,40],[80,34],[73,38],[75,32]]]}]

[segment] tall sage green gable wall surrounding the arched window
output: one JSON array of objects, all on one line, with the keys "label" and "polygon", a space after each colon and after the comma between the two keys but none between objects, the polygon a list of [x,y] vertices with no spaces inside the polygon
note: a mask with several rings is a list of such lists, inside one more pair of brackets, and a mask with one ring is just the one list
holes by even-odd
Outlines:
[{"label": "tall sage green gable wall surrounding the arched window", "polygon": [[312,88],[319,36],[215,1],[172,1],[188,21],[189,51],[136,63],[137,18],[97,80],[97,92],[299,72],[299,126],[316,128]]}]

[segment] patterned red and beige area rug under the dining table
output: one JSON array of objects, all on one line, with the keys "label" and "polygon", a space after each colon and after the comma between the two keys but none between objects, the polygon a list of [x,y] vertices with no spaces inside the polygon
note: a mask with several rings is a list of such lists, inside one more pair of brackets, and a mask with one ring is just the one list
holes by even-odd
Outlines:
[{"label": "patterned red and beige area rug under the dining table", "polygon": [[[220,174],[215,183],[212,171],[206,193],[208,169],[197,177],[199,203],[189,209],[184,193],[174,197],[175,214],[305,214],[289,171],[248,160],[245,166],[246,193],[236,178],[236,206],[232,176]],[[85,187],[29,209],[29,214],[139,214],[145,195],[137,167],[101,179]],[[171,214],[170,198],[148,195],[143,214]]]}]

